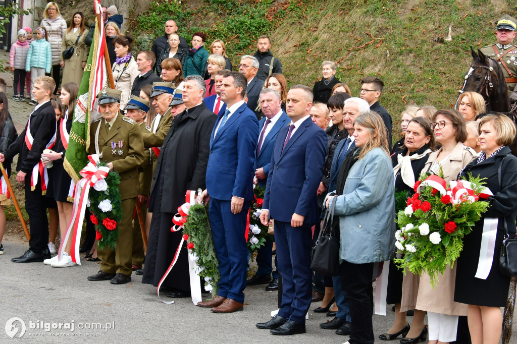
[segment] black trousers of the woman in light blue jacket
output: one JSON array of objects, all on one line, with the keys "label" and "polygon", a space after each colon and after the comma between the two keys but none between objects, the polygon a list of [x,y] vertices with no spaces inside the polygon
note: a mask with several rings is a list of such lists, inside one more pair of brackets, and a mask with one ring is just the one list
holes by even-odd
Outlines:
[{"label": "black trousers of the woman in light blue jacket", "polygon": [[353,264],[343,261],[340,268],[341,288],[353,321],[349,341],[354,344],[373,344],[373,263]]}]

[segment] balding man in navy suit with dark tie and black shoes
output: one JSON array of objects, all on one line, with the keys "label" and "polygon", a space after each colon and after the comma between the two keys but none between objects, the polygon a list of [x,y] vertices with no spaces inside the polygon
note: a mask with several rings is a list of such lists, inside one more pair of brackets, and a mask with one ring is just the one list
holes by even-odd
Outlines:
[{"label": "balding man in navy suit with dark tie and black shoes", "polygon": [[275,335],[305,333],[311,304],[311,227],[318,221],[316,192],[323,171],[327,135],[311,120],[312,92],[295,85],[287,93],[291,125],[278,133],[271,157],[261,222],[275,220],[275,242],[282,274],[278,314],[259,329]]}]

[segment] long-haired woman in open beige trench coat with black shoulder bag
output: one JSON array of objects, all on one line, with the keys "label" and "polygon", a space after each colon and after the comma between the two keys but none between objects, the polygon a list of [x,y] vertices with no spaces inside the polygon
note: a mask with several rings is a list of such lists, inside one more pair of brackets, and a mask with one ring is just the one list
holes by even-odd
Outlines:
[{"label": "long-haired woman in open beige trench coat with black shoulder bag", "polygon": [[[61,84],[76,83],[81,85],[83,78],[84,66],[88,58],[88,51],[84,44],[84,39],[88,34],[88,30],[84,28],[84,15],[82,12],[75,12],[70,22],[70,26],[66,30],[65,39],[61,44],[61,54],[59,55],[60,65],[63,69],[63,80]],[[79,40],[77,40],[79,38]],[[77,44],[75,42],[77,41]],[[65,59],[63,52],[73,46],[73,55]]]}]

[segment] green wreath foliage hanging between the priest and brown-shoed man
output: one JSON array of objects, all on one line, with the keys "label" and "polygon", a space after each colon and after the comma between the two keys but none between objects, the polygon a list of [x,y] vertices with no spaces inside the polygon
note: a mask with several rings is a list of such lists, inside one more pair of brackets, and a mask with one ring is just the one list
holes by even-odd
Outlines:
[{"label": "green wreath foliage hanging between the priest and brown-shoed man", "polygon": [[[195,204],[189,208],[189,217],[183,225],[183,232],[188,236],[187,243],[192,243],[194,256],[199,258],[197,265],[202,270],[201,278],[205,278],[205,286],[211,286],[213,296],[217,295],[217,284],[221,279],[219,261],[217,260],[210,223],[208,222],[207,208],[202,204]],[[184,237],[185,238],[185,237]],[[188,244],[187,244],[188,245]],[[210,288],[208,287],[207,290]]]}]

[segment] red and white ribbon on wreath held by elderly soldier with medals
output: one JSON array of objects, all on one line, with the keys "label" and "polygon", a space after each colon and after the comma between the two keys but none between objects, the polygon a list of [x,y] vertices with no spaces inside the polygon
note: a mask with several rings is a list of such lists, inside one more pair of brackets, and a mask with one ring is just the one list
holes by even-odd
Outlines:
[{"label": "red and white ribbon on wreath held by elderly soldier with medals", "polygon": [[84,211],[86,204],[88,203],[88,194],[91,186],[103,178],[108,176],[110,168],[108,166],[102,166],[97,168],[99,163],[99,157],[97,154],[88,155],[90,161],[79,174],[83,176],[75,187],[75,194],[73,200],[72,218],[66,230],[65,238],[63,243],[59,245],[58,259],[60,260],[63,254],[63,250],[70,238],[72,237],[72,249],[70,257],[72,261],[81,265],[79,257],[79,244],[81,241],[81,229],[83,227]]}]

